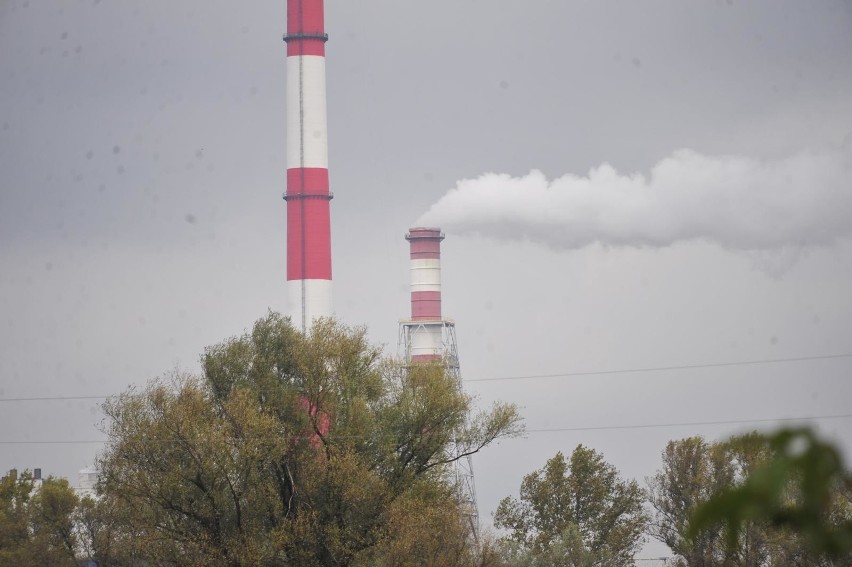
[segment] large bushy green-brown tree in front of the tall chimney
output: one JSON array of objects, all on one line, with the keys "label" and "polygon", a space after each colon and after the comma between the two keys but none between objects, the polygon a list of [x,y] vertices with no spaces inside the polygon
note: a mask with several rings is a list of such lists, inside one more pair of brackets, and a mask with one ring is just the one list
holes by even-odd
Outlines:
[{"label": "large bushy green-brown tree in front of the tall chimney", "polygon": [[105,404],[102,502],[135,557],[470,562],[448,465],[517,433],[513,406],[474,414],[441,366],[404,368],[363,329],[323,320],[303,335],[275,313],[208,348],[202,369]]}]

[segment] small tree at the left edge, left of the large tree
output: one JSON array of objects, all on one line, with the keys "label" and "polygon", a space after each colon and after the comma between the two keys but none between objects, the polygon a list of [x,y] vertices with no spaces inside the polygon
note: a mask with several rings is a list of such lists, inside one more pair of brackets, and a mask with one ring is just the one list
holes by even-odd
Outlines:
[{"label": "small tree at the left edge, left of the large tree", "polygon": [[0,479],[0,565],[76,565],[77,503],[65,479],[39,482],[30,471]]}]

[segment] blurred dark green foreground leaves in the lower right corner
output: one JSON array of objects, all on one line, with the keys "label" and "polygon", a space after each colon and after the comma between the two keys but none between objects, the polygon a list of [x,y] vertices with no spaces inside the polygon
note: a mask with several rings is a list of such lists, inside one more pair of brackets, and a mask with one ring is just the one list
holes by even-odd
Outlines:
[{"label": "blurred dark green foreground leaves in the lower right corner", "polygon": [[770,457],[738,486],[726,487],[699,506],[687,537],[727,527],[728,549],[742,544],[754,522],[801,536],[815,556],[849,562],[852,553],[852,476],[840,454],[809,429],[784,429],[760,437]]}]

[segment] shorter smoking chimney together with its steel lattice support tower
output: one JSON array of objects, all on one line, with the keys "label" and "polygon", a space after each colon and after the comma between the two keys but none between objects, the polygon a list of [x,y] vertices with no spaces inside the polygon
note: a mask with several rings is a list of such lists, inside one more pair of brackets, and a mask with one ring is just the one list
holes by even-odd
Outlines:
[{"label": "shorter smoking chimney together with its steel lattice support tower", "polygon": [[[412,228],[405,239],[411,249],[411,318],[399,322],[399,346],[407,365],[443,364],[461,388],[455,323],[441,314],[441,241],[439,228]],[[452,448],[451,450],[454,450]],[[470,455],[455,462],[462,513],[471,536],[479,539],[479,511]]]}]

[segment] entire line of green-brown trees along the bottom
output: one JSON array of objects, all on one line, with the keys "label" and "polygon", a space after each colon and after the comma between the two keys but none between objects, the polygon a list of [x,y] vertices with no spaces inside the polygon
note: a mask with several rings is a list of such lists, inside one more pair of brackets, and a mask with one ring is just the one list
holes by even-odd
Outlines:
[{"label": "entire line of green-brown trees along the bottom", "polygon": [[680,565],[852,564],[852,488],[812,438],[673,441],[641,487],[581,445],[501,502],[505,535],[474,541],[453,467],[522,431],[513,405],[477,410],[363,329],[306,336],[275,313],[201,362],[105,403],[97,498],[2,478],[0,566],[620,567],[648,536]]}]

